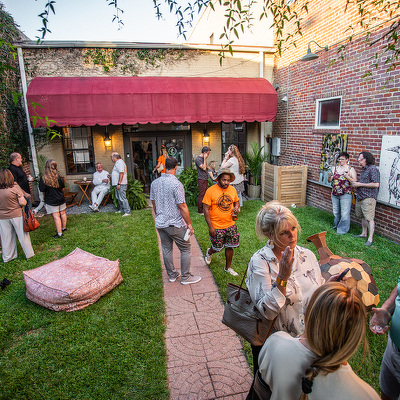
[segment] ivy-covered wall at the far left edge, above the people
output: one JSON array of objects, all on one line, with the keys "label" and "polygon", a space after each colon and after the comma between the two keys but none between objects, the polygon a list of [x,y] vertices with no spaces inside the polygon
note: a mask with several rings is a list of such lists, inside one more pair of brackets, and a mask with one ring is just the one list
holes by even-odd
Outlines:
[{"label": "ivy-covered wall at the far left edge, above the people", "polygon": [[9,165],[9,155],[16,151],[29,161],[29,135],[20,92],[16,49],[20,39],[14,20],[0,4],[0,168]]}]

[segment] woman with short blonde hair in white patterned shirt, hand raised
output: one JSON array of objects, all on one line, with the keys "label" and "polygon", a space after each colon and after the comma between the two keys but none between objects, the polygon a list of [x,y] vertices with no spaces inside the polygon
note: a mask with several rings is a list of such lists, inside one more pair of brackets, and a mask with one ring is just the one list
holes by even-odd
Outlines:
[{"label": "woman with short blonde hair in white patterned shirt, hand raised", "polygon": [[[250,259],[246,285],[257,309],[273,320],[275,331],[292,336],[304,332],[304,313],[314,291],[325,280],[311,250],[297,245],[300,226],[278,201],[264,204],[256,217],[256,232],[266,245]],[[254,373],[261,346],[252,346]]]}]

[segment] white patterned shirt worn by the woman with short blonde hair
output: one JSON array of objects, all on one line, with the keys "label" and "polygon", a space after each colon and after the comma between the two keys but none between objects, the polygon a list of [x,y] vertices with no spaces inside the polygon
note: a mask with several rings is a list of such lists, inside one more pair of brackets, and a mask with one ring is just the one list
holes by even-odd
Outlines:
[{"label": "white patterned shirt worn by the woman with short blonde hair", "polygon": [[274,330],[285,331],[295,337],[304,332],[304,313],[308,301],[325,280],[311,250],[296,246],[293,257],[286,297],[274,285],[279,261],[268,243],[251,257],[246,285],[261,314],[270,320],[278,315]]}]

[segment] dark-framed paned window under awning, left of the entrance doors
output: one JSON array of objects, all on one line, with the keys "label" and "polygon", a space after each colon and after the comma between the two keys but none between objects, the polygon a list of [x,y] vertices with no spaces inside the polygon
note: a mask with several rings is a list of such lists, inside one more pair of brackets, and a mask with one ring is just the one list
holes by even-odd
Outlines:
[{"label": "dark-framed paned window under awning, left of the entrance doors", "polygon": [[63,144],[67,174],[95,172],[93,138],[90,127],[63,128]]}]

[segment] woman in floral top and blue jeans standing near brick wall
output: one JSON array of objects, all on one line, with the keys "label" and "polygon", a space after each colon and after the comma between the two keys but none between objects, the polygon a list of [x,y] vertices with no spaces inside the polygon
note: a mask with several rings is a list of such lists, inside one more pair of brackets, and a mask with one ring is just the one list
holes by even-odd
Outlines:
[{"label": "woman in floral top and blue jeans standing near brick wall", "polygon": [[333,228],[338,235],[344,235],[350,230],[350,210],[353,200],[351,182],[357,181],[356,170],[348,165],[349,154],[339,153],[338,165],[333,173],[329,173],[328,182],[332,183],[332,208],[335,217]]}]

